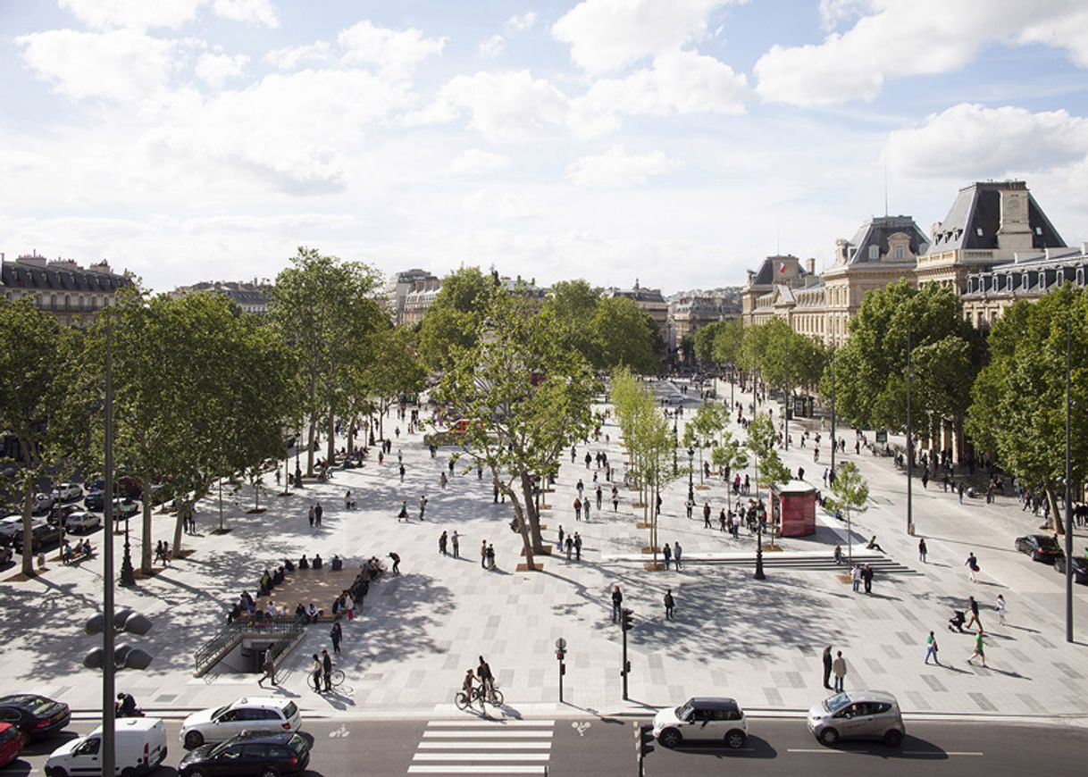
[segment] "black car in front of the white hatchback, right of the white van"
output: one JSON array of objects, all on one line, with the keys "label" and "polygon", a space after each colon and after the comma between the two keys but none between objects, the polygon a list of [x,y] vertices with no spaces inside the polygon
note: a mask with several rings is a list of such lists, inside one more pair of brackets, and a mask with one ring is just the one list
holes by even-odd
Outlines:
[{"label": "black car in front of the white hatchback, right of the white van", "polygon": [[219,744],[202,744],[178,765],[182,777],[279,777],[306,772],[310,741],[298,733],[239,733]]}]

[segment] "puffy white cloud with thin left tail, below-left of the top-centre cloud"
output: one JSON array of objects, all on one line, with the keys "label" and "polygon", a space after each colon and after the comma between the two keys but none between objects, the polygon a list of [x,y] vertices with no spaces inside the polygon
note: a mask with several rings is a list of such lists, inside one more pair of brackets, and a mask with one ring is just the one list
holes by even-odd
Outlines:
[{"label": "puffy white cloud with thin left tail, below-left of the top-centre cloud", "polygon": [[492,140],[520,140],[546,125],[560,125],[570,100],[551,82],[527,71],[479,72],[458,75],[438,91],[424,111],[409,123],[452,121],[462,111],[469,126]]}]

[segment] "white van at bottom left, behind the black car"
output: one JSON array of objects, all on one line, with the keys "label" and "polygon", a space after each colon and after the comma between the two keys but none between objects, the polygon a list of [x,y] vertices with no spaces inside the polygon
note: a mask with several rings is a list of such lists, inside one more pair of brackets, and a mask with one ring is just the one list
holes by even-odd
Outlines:
[{"label": "white van at bottom left, behind the black car", "polygon": [[[166,727],[153,717],[126,717],[115,721],[116,775],[135,777],[159,768],[166,758]],[[83,739],[73,739],[53,751],[46,761],[46,777],[76,777],[102,774],[102,727]]]}]

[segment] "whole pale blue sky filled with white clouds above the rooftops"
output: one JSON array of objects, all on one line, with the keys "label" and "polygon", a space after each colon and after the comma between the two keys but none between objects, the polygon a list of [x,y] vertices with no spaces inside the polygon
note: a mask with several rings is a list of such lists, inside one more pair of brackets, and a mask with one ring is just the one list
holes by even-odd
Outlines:
[{"label": "whole pale blue sky filled with white clouds above the rooftops", "polygon": [[1084,0],[0,0],[0,251],[298,245],[666,293],[1023,176],[1088,239]]}]

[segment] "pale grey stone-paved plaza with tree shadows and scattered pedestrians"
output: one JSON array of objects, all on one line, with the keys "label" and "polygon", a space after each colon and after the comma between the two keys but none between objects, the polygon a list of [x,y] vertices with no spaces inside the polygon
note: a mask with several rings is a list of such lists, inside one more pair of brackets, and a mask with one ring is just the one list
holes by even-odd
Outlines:
[{"label": "pale grey stone-paved plaza with tree shadows and scattered pedestrians", "polygon": [[[680,396],[673,384],[657,384],[656,390],[662,396]],[[719,385],[718,395],[728,397],[728,386]],[[689,395],[684,419],[694,415],[696,405]],[[393,425],[387,419],[385,428]],[[844,431],[852,443],[852,431]],[[256,675],[212,670],[193,676],[194,652],[225,622],[237,595],[243,590],[256,595],[263,569],[285,558],[297,560],[304,553],[326,559],[339,554],[348,559],[345,569],[351,569],[370,556],[388,565],[387,554],[396,552],[403,559],[401,576],[381,576],[361,603],[361,616],[344,621],[344,652],[337,665],[347,680],[339,693],[318,695],[306,684],[310,654],[331,649],[329,624],[309,627],[281,667],[280,687],[271,692],[299,699],[309,714],[453,712],[452,699],[465,670],[482,654],[505,693],[507,715],[631,712],[696,694],[732,695],[751,710],[787,712],[807,708],[825,695],[820,653],[831,644],[848,662],[848,689],[891,691],[910,713],[1088,713],[1088,638],[1072,645],[1064,640],[1062,576],[1013,550],[1016,535],[1035,531],[1041,522],[1023,513],[1017,499],[999,496],[992,505],[984,499],[961,505],[939,484],[924,490],[916,481],[916,532],[929,546],[928,563],[923,564],[917,536],[904,530],[904,477],[890,458],[855,456],[851,447],[843,458],[858,464],[871,489],[870,506],[854,519],[855,547],[861,550],[876,534],[883,548],[883,554],[868,556],[878,571],[873,594],[865,595],[853,593],[830,564],[834,544],[846,544],[844,528],[833,517],[818,510],[814,536],[781,541],[780,553],[767,554],[767,580],[758,582],[752,578],[754,538],[742,530],[733,540],[717,528],[725,486],[713,482],[695,492],[700,506],[706,499],[713,508],[714,528],[705,529],[700,508],[691,519],[684,515],[683,479],[665,492],[659,541],[682,544],[684,568],[647,572],[640,553],[647,538],[635,528],[642,510],[632,507],[634,492],[621,489],[619,509],[613,511],[606,485],[604,509],[594,509],[589,522],[576,521],[571,507],[579,478],[586,494],[594,491],[595,472],[604,480],[603,470],[586,469],[586,451],[606,449],[622,472],[619,436],[609,422],[599,444],[579,445],[578,459],[571,464],[565,458],[556,491],[547,494],[551,508],[542,518],[548,526],[546,536],[554,542],[559,525],[578,531],[581,560],[555,552],[541,559],[543,571],[532,574],[515,571],[521,560],[520,536],[508,527],[509,505],[493,503],[486,473],[480,480],[474,470],[462,473],[458,468],[443,490],[440,474],[453,449],[440,449],[432,459],[418,433],[394,440],[383,466],[372,451],[363,469],[337,471],[331,482],[308,482],[289,496],[262,496],[268,510],[259,515],[246,511],[252,493],[242,488],[225,497],[226,534],[211,533],[219,520],[217,499],[202,501],[198,535],[185,538],[194,553],[140,580],[135,589],[118,590],[119,606],[132,606],[153,619],[153,630],[132,641],[156,656],[148,671],[121,673],[119,690],[135,694],[146,708],[162,711],[211,706],[257,693]],[[404,483],[397,476],[398,449],[407,469]],[[783,460],[794,472],[803,466],[807,479],[821,488],[827,462],[813,464],[811,447],[783,452]],[[697,473],[695,479],[697,483]],[[345,509],[347,490],[358,509]],[[421,494],[429,498],[422,522],[416,519]],[[412,516],[409,522],[397,520],[401,499]],[[324,515],[322,526],[311,528],[307,511],[314,501]],[[138,523],[133,523],[134,542]],[[153,539],[171,539],[173,525],[172,515],[157,511]],[[443,530],[459,533],[461,558],[438,553]],[[96,544],[101,538],[92,535]],[[494,543],[494,571],[481,567],[482,541]],[[121,539],[116,542],[120,562]],[[1077,553],[1086,542],[1083,534],[1076,538]],[[968,580],[964,566],[970,551],[981,567],[977,582]],[[629,634],[629,702],[620,693],[621,634],[610,618],[614,584],[623,591],[625,606],[635,613]],[[82,668],[81,661],[96,645],[95,638],[84,634],[83,622],[99,605],[100,556],[72,567],[51,562],[38,579],[3,585],[9,602],[0,625],[5,690],[34,689],[75,710],[98,707],[99,674]],[[676,597],[675,620],[664,618],[662,599],[668,589]],[[999,593],[1009,603],[1004,627],[992,610]],[[989,668],[966,663],[973,636],[945,628],[953,608],[965,608],[968,595],[982,605]],[[287,604],[294,608],[296,602]],[[1076,588],[1076,618],[1077,634],[1088,633],[1085,587]],[[930,630],[940,642],[942,666],[923,663]],[[553,646],[560,637],[568,644],[562,705]]]}]

